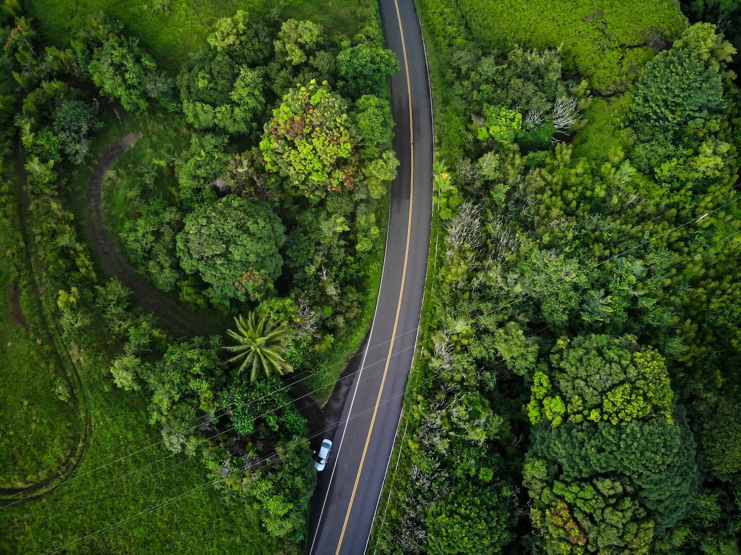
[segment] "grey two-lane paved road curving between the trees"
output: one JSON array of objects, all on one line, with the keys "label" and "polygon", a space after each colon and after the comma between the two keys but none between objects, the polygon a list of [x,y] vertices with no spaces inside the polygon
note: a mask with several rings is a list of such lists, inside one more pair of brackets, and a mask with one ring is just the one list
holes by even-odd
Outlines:
[{"label": "grey two-lane paved road curving between the trees", "polygon": [[359,373],[328,432],[334,448],[313,501],[310,555],[365,552],[391,457],[425,290],[432,216],[433,130],[425,47],[413,0],[379,0],[387,47],[401,64],[391,79],[399,176],[391,188],[388,240],[376,314]]}]

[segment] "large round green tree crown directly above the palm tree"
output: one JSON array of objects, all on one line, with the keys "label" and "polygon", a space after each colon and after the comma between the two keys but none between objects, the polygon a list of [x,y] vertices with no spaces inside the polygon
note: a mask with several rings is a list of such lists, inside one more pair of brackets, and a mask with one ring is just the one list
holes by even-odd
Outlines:
[{"label": "large round green tree crown directly above the palm tree", "polygon": [[249,292],[238,287],[243,271],[265,270],[270,280],[280,275],[283,243],[284,227],[267,203],[226,196],[185,216],[177,253],[183,270],[210,285],[207,295],[228,305],[247,299]]}]

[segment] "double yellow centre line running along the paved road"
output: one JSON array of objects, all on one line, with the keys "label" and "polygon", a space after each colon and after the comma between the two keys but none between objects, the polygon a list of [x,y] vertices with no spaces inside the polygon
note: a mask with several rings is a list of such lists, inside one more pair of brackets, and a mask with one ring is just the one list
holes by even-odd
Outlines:
[{"label": "double yellow centre line running along the paved road", "polygon": [[345,514],[345,522],[342,524],[342,533],[339,535],[339,543],[337,544],[337,551],[335,555],[339,555],[339,550],[342,548],[342,539],[345,538],[345,529],[348,528],[348,520],[350,519],[350,511],[353,508],[353,502],[355,501],[355,493],[358,489],[360,482],[360,473],[363,471],[363,463],[365,462],[365,455],[368,453],[368,444],[371,442],[371,434],[373,433],[373,425],[376,424],[376,414],[378,413],[379,405],[381,404],[381,395],[383,393],[383,386],[386,382],[386,376],[388,374],[388,366],[391,364],[391,353],[393,351],[393,341],[396,339],[396,326],[399,325],[399,314],[402,311],[402,296],[404,295],[404,282],[407,277],[407,262],[409,259],[409,241],[412,231],[412,206],[414,201],[414,125],[412,120],[412,89],[411,81],[409,79],[409,63],[407,60],[407,47],[404,41],[404,29],[402,28],[402,15],[399,13],[399,2],[393,0],[396,5],[396,19],[399,20],[399,33],[402,36],[402,52],[404,53],[404,70],[407,74],[407,93],[409,96],[409,139],[411,142],[411,176],[410,176],[410,189],[409,189],[409,221],[407,223],[407,246],[404,253],[404,270],[402,271],[402,288],[399,291],[399,305],[396,306],[396,319],[393,322],[393,332],[391,333],[391,345],[388,347],[388,356],[386,357],[386,367],[383,370],[383,377],[381,379],[381,388],[378,392],[378,399],[376,399],[376,407],[373,408],[373,418],[371,418],[371,428],[368,429],[368,437],[365,438],[365,447],[363,448],[363,455],[360,459],[360,466],[358,468],[358,474],[355,476],[355,485],[353,486],[353,494],[350,496],[350,505],[348,505],[348,512]]}]

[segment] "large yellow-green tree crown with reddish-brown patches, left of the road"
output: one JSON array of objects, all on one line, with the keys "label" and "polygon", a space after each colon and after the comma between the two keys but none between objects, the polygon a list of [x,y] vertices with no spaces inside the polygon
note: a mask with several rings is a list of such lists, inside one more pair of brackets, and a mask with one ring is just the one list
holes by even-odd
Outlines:
[{"label": "large yellow-green tree crown with reddish-brown patches, left of the road", "polygon": [[288,176],[306,196],[355,186],[347,107],[326,84],[291,89],[265,124],[260,149],[268,170]]}]

